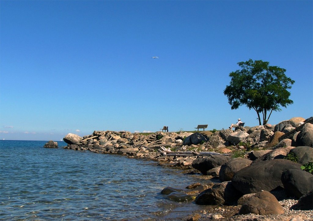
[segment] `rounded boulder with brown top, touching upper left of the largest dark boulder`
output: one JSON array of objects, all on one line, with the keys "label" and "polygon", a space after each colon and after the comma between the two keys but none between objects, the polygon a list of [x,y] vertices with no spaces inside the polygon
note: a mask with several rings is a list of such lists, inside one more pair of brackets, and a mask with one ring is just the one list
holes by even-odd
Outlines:
[{"label": "rounded boulder with brown top, touching upper left of the largest dark boulder", "polygon": [[235,158],[232,159],[226,163],[224,163],[221,166],[221,169],[219,170],[219,180],[220,181],[230,181],[233,178],[233,175],[239,171],[240,169],[249,166],[252,163],[252,160],[246,159],[246,158]]}]

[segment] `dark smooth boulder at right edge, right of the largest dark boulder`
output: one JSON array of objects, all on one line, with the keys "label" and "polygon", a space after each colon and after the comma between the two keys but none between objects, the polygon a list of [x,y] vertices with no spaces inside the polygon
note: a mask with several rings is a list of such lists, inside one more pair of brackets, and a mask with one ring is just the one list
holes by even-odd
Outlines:
[{"label": "dark smooth boulder at right edge, right of the largest dark boulder", "polygon": [[287,169],[281,176],[288,196],[300,198],[313,190],[313,175],[299,169]]}]

